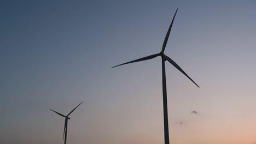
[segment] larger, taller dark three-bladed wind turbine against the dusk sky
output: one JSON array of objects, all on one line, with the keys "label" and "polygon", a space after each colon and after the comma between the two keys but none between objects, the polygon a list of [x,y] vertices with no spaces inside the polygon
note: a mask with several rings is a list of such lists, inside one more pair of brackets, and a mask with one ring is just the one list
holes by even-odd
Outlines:
[{"label": "larger, taller dark three-bladed wind turbine against the dusk sky", "polygon": [[[176,10],[176,13],[177,13],[178,9]],[[181,71],[181,73],[183,73],[185,76],[188,77],[189,80],[191,80],[193,83],[195,83],[186,73],[184,70],[182,70],[181,67],[179,67],[179,65],[174,62],[170,57],[166,56],[164,54],[164,51],[165,51],[165,47],[166,47],[166,44],[167,44],[167,41],[168,41],[168,38],[169,38],[169,35],[170,35],[170,32],[171,32],[171,28],[172,28],[172,24],[173,24],[173,21],[174,21],[174,18],[176,16],[176,13],[174,14],[173,16],[173,19],[172,19],[172,22],[171,22],[171,25],[167,31],[167,34],[165,36],[165,41],[164,41],[164,44],[162,44],[162,50],[159,52],[159,53],[156,53],[154,55],[150,55],[150,56],[147,56],[147,57],[142,57],[142,58],[139,58],[139,59],[135,59],[133,61],[130,61],[130,62],[127,62],[127,63],[123,63],[123,64],[119,64],[115,67],[118,67],[120,65],[124,65],[124,64],[129,64],[129,63],[135,63],[135,62],[140,62],[140,61],[146,61],[148,59],[152,59],[152,58],[155,58],[155,57],[158,57],[158,56],[161,56],[162,57],[162,96],[163,96],[163,103],[164,103],[164,131],[165,131],[165,144],[169,144],[169,130],[168,130],[168,112],[167,112],[167,92],[166,92],[166,77],[165,77],[165,61],[167,60],[168,62],[170,62],[175,68],[177,68],[179,71]],[[114,68],[114,67],[112,67]],[[197,87],[199,87],[196,83],[195,85]]]}]

